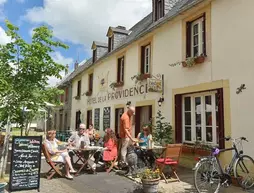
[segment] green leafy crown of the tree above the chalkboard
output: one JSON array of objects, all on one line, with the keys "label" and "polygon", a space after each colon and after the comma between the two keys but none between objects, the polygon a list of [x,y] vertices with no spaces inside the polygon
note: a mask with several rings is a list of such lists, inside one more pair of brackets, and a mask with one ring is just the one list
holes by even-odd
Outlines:
[{"label": "green leafy crown of the tree above the chalkboard", "polygon": [[35,114],[45,102],[60,102],[56,96],[63,91],[49,87],[48,79],[61,78],[65,67],[56,63],[51,54],[58,47],[68,47],[55,40],[46,26],[34,29],[31,41],[26,42],[18,34],[18,27],[8,20],[5,23],[12,41],[0,45],[0,118],[4,122],[9,115],[11,122],[24,126],[24,107]]}]

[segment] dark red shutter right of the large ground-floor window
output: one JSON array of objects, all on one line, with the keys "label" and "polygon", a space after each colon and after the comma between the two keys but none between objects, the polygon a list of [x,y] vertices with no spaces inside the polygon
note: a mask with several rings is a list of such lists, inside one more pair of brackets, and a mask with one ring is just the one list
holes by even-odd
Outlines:
[{"label": "dark red shutter right of the large ground-floor window", "polygon": [[225,137],[225,128],[224,128],[224,101],[223,101],[223,88],[217,90],[217,100],[218,100],[218,136],[219,136],[219,147],[225,148],[225,140],[220,140]]}]

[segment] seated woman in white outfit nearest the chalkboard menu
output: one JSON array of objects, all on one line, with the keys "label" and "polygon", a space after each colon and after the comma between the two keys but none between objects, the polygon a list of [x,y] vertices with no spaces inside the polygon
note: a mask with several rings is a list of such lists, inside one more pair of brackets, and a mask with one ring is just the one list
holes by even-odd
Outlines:
[{"label": "seated woman in white outfit nearest the chalkboard menu", "polygon": [[51,156],[51,160],[55,162],[63,162],[65,163],[66,175],[65,177],[68,179],[73,179],[73,176],[70,173],[76,173],[73,169],[70,156],[68,155],[67,149],[59,150],[58,141],[56,138],[56,131],[51,130],[47,133],[47,139],[45,140],[45,145],[48,148],[48,151]]}]

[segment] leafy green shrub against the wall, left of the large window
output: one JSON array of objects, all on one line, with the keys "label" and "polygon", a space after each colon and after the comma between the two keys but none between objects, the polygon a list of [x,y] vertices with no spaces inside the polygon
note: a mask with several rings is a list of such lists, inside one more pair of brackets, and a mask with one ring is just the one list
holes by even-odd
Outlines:
[{"label": "leafy green shrub against the wall, left of the large window", "polygon": [[159,144],[170,144],[172,143],[172,126],[164,120],[165,117],[159,110],[156,116],[156,125],[153,128],[153,139]]}]

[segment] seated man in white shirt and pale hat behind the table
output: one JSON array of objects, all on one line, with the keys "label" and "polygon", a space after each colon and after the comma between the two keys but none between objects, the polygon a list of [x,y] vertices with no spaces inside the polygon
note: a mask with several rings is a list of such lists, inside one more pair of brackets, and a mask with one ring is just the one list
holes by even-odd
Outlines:
[{"label": "seated man in white shirt and pale hat behind the table", "polygon": [[[79,148],[81,145],[81,141],[84,142],[85,146],[90,146],[90,140],[89,140],[89,136],[86,132],[86,125],[85,124],[80,124],[79,125],[79,131],[78,133],[74,133],[68,140],[69,145],[73,146],[73,147],[77,147]],[[89,158],[89,152],[85,151],[82,152],[84,158],[87,160]],[[73,151],[69,151],[69,155],[71,157],[71,161],[73,163],[73,156],[75,155]],[[88,161],[88,164],[90,166],[92,166],[92,169],[95,170],[96,169],[96,164],[94,162],[92,162],[91,160]]]}]

